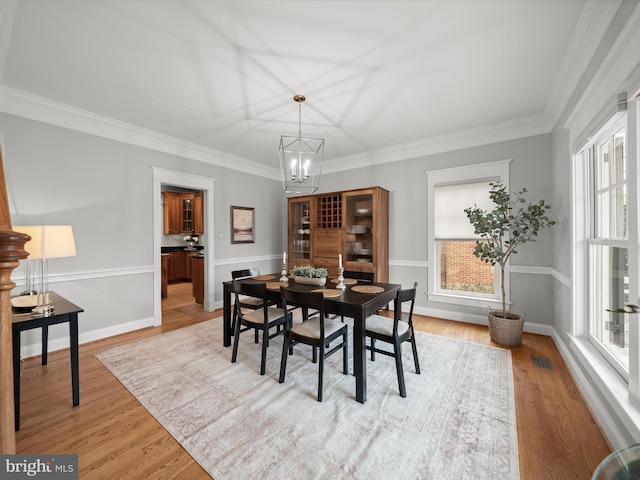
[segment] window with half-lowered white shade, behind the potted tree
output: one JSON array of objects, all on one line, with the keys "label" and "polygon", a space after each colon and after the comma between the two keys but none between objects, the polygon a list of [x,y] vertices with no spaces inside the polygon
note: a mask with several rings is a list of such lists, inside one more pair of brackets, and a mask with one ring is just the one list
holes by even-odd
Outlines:
[{"label": "window with half-lowered white shade, behind the potted tree", "polygon": [[495,267],[473,255],[479,237],[464,209],[473,205],[487,210],[493,208],[489,183],[501,180],[508,186],[509,162],[426,172],[429,300],[483,308],[500,302],[500,276]]}]

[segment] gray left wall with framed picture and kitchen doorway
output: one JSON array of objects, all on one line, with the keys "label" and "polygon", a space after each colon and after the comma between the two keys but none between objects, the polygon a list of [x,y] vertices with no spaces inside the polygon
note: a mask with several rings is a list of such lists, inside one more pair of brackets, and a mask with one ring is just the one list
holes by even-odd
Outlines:
[{"label": "gray left wall with framed picture and kitchen doorway", "polygon": [[[160,202],[152,167],[215,179],[216,302],[222,280],[247,259],[266,271],[279,267],[285,209],[278,182],[6,114],[0,136],[13,225],[73,226],[77,255],[49,261],[50,287],[85,309],[81,341],[152,323],[153,206]],[[256,243],[230,243],[230,205],[256,209]],[[19,269],[14,279],[21,282]],[[52,349],[66,336],[64,327],[52,329]],[[38,342],[23,334],[26,354],[37,353]]]}]

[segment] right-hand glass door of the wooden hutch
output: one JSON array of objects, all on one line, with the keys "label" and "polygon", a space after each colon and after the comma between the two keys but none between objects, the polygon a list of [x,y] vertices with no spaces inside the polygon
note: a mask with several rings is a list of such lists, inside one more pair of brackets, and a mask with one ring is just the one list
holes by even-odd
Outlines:
[{"label": "right-hand glass door of the wooden hutch", "polygon": [[373,263],[373,194],[345,195],[347,261]]}]

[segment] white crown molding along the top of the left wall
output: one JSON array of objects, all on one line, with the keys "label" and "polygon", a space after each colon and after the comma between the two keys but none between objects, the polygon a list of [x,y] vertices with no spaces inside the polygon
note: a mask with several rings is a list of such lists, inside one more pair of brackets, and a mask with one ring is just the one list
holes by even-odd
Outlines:
[{"label": "white crown molding along the top of the left wall", "polygon": [[5,85],[0,86],[0,112],[272,180],[281,180],[279,169],[185,142]]}]

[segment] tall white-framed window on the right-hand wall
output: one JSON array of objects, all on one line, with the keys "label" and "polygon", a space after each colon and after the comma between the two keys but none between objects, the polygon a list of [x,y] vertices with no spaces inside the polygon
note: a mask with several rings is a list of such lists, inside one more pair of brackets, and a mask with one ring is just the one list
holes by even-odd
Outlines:
[{"label": "tall white-framed window on the right-hand wall", "polygon": [[629,303],[626,115],[600,131],[583,155],[592,178],[586,330],[598,351],[627,378],[629,315],[609,311]]}]

